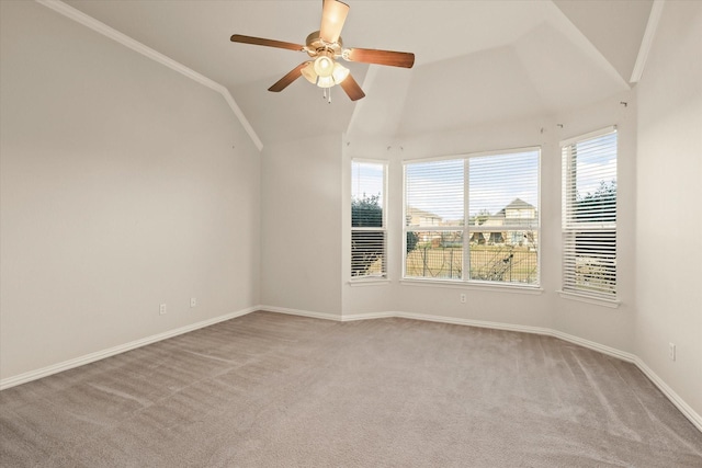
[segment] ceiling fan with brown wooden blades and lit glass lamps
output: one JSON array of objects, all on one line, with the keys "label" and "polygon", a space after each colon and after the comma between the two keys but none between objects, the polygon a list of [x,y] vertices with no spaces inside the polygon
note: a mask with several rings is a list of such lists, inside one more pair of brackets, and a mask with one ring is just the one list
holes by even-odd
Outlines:
[{"label": "ceiling fan with brown wooden blades and lit glass lamps", "polygon": [[347,15],[349,14],[349,5],[339,0],[322,1],[321,26],[319,31],[315,31],[307,36],[305,45],[244,36],[240,34],[231,36],[231,42],[235,43],[305,52],[312,58],[312,60],[303,61],[292,69],[275,82],[275,84],[269,88],[269,91],[283,91],[293,81],[303,76],[310,83],[322,88],[325,90],[325,96],[329,95],[329,102],[331,102],[331,94],[327,94],[327,90],[335,84],[341,85],[351,101],[356,101],[365,96],[365,93],[353,79],[349,69],[337,61],[338,58],[362,64],[412,68],[412,65],[415,65],[415,54],[411,53],[367,48],[343,48],[340,34]]}]

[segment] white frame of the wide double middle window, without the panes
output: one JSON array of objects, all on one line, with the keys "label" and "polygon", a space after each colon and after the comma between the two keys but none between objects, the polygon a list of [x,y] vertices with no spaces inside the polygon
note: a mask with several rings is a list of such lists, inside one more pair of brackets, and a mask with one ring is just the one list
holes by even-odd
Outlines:
[{"label": "white frame of the wide double middle window, without the panes", "polygon": [[[536,152],[537,168],[536,168],[536,221],[535,226],[530,226],[530,230],[535,231],[537,241],[536,248],[536,279],[534,283],[521,283],[521,282],[502,282],[492,279],[474,279],[471,278],[471,269],[463,269],[460,278],[434,278],[426,276],[408,276],[407,275],[407,236],[408,232],[461,232],[462,233],[462,249],[463,249],[463,265],[471,265],[471,236],[474,232],[495,231],[495,227],[479,227],[469,222],[469,161],[474,158],[483,158],[490,156],[509,156],[518,153]],[[407,225],[408,219],[408,203],[407,203],[407,167],[416,163],[426,162],[440,162],[440,161],[462,161],[463,163],[463,226],[427,226],[427,227],[411,227]],[[426,284],[426,285],[441,285],[446,287],[473,287],[478,289],[502,289],[507,288],[511,292],[525,292],[531,294],[539,294],[542,289],[541,278],[541,167],[542,164],[542,147],[529,146],[520,148],[509,148],[502,150],[480,151],[471,153],[460,153],[450,156],[440,156],[432,158],[421,159],[408,159],[403,161],[403,262],[401,262],[401,282],[406,284]],[[502,230],[513,231],[523,230],[523,226],[517,225],[503,225],[500,226]]]}]

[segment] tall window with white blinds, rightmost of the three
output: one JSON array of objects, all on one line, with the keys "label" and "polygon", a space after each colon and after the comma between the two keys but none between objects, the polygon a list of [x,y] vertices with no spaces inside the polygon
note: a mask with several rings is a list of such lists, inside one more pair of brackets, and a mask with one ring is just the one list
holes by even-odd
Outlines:
[{"label": "tall window with white blinds, rightmost of the three", "polygon": [[616,298],[616,129],[562,142],[563,292]]}]

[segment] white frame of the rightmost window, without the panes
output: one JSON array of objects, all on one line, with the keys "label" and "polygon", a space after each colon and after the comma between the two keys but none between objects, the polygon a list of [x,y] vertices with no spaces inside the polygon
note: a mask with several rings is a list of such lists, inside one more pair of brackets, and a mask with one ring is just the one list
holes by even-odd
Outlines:
[{"label": "white frame of the rightmost window, without the panes", "polygon": [[[613,220],[577,220],[576,217],[576,204],[577,204],[577,172],[574,170],[574,164],[577,161],[578,155],[573,151],[573,148],[589,140],[593,140],[609,135],[615,136],[614,159],[616,168],[614,170],[614,208]],[[590,132],[584,135],[578,135],[573,138],[561,141],[561,157],[562,157],[562,220],[561,220],[561,246],[562,246],[562,274],[561,274],[561,289],[558,293],[562,297],[568,299],[580,300],[585,303],[601,305],[605,307],[619,307],[620,300],[620,284],[618,277],[618,263],[619,263],[619,130],[615,125],[601,128],[599,130]],[[609,149],[609,148],[608,148]],[[602,182],[602,181],[601,181]],[[608,215],[609,216],[609,215]],[[592,288],[578,287],[577,274],[575,273],[575,265],[578,256],[577,253],[577,236],[582,235],[598,239],[613,239],[612,269],[613,274],[608,274],[608,278],[611,277],[612,293],[604,290],[593,290]],[[602,243],[605,246],[605,243]],[[600,254],[605,250],[605,247],[600,248],[596,253]],[[607,266],[609,267],[609,266]]]}]

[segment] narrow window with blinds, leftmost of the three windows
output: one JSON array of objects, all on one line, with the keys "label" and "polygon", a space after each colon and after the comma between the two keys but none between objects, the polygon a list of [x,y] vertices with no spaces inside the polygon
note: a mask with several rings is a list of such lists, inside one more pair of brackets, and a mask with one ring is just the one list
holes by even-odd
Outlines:
[{"label": "narrow window with blinds, leftmost of the three windows", "polygon": [[386,277],[383,162],[351,161],[351,278]]}]

